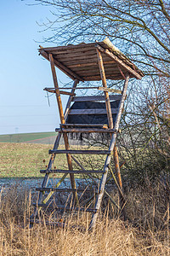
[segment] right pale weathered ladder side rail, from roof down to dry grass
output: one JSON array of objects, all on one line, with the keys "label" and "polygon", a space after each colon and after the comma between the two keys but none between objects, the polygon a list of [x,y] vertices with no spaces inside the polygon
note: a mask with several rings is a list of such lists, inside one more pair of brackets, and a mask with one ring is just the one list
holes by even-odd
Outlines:
[{"label": "right pale weathered ladder side rail, from roof down to dry grass", "polygon": [[[120,120],[121,120],[122,108],[123,108],[124,101],[126,99],[126,94],[127,94],[128,80],[129,80],[129,73],[127,73],[127,75],[126,75],[126,80],[125,80],[123,90],[122,90],[122,100],[119,103],[119,111],[116,115],[116,123],[115,123],[115,127],[114,127],[115,133],[111,137],[111,143],[110,143],[110,148],[109,148],[109,150],[111,150],[111,151],[113,151],[113,149],[115,147],[115,143],[116,143],[116,135],[117,135],[117,131],[118,131]],[[101,181],[99,184],[99,195],[98,195],[98,198],[97,198],[96,204],[95,204],[96,212],[93,214],[91,223],[89,225],[89,230],[92,230],[94,228],[96,219],[98,218],[99,208],[100,208],[101,201],[102,201],[104,191],[105,191],[105,182],[106,182],[107,173],[108,173],[108,169],[109,169],[108,166],[109,166],[110,162],[111,162],[111,154],[109,154],[105,160],[105,166],[104,166],[105,174],[102,175],[102,178],[101,178]]]}]

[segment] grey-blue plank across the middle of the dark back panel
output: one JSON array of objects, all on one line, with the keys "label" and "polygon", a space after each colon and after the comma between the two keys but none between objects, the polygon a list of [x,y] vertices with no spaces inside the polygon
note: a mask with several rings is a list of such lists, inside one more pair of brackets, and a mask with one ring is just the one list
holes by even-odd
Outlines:
[{"label": "grey-blue plank across the middle of the dark back panel", "polygon": [[[118,108],[111,108],[111,113],[117,113]],[[104,108],[96,109],[70,109],[69,114],[106,114],[107,110]]]}]

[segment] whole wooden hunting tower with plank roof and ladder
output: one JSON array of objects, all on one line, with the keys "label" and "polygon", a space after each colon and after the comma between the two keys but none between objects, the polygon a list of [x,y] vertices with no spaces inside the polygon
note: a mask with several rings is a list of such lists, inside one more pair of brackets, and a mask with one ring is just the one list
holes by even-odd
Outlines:
[{"label": "whole wooden hunting tower with plank roof and ladder", "polygon": [[[144,74],[136,67],[122,52],[117,49],[111,41],[106,38],[103,42],[97,42],[92,44],[77,44],[67,45],[51,48],[39,49],[40,55],[50,62],[54,88],[45,88],[48,92],[52,92],[56,95],[59,117],[60,117],[60,128],[58,136],[56,137],[54,148],[49,150],[51,154],[48,167],[46,170],[41,170],[41,173],[45,174],[42,182],[42,187],[37,188],[39,191],[38,201],[35,205],[35,212],[31,219],[36,219],[38,212],[45,207],[53,207],[57,210],[80,210],[92,212],[92,220],[89,229],[94,228],[96,218],[99,214],[99,208],[101,206],[102,198],[104,193],[111,198],[111,195],[105,191],[105,183],[107,174],[110,168],[111,157],[115,161],[115,169],[117,175],[117,183],[119,184],[119,192],[122,195],[122,180],[120,174],[118,154],[116,150],[116,137],[119,131],[119,123],[122,115],[123,104],[127,96],[127,84],[129,78],[142,79]],[[58,79],[56,76],[55,67],[58,67],[63,73],[73,80],[72,87],[59,88]],[[108,88],[106,80],[124,80],[122,90],[116,90]],[[97,87],[93,85],[89,86],[77,86],[82,81],[102,81],[102,86]],[[94,95],[90,96],[76,96],[76,91],[81,89],[90,89],[94,92]],[[69,89],[71,91],[69,91]],[[102,95],[97,95],[97,92],[103,91]],[[65,112],[62,107],[61,95],[69,96],[66,104]],[[107,150],[99,150],[99,148],[93,148],[93,150],[71,150],[69,144],[69,133],[108,133],[111,136],[111,143]],[[63,136],[65,143],[65,150],[59,149],[59,141]],[[68,170],[54,169],[54,159],[56,154],[65,154]],[[87,170],[85,166],[75,157],[75,154],[103,154],[105,155],[105,161],[103,167],[100,170]],[[73,168],[73,164],[78,166],[78,170]],[[53,187],[48,186],[50,175],[56,173],[63,173],[63,177],[60,178],[59,183]],[[79,204],[79,193],[83,189],[77,189],[77,183],[75,181],[75,174],[81,174],[82,177],[85,175],[91,178],[94,182],[94,174],[100,174],[99,188],[94,196],[95,203],[94,207],[82,207]],[[70,188],[59,188],[67,175],[70,175],[71,187]],[[59,176],[60,177],[60,176]],[[51,201],[51,196],[54,193],[65,191],[72,193],[73,203],[70,206],[60,206]],[[84,193],[88,189],[85,189]],[[94,191],[94,190],[93,190]],[[89,191],[88,191],[89,192]]]}]

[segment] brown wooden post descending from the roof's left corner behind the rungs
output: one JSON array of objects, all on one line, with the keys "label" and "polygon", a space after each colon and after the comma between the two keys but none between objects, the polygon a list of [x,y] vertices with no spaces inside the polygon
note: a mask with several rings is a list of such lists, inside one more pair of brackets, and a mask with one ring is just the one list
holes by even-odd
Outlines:
[{"label": "brown wooden post descending from the roof's left corner behind the rungs", "polygon": [[[54,58],[53,58],[53,55],[51,55],[51,54],[49,54],[49,61],[51,64],[51,71],[52,71],[52,75],[53,75],[53,79],[54,79],[54,88],[55,88],[55,94],[56,94],[58,107],[59,107],[60,121],[61,121],[61,124],[65,124],[65,116],[64,116],[64,112],[63,112],[61,98],[59,95],[59,84],[58,84],[57,76],[56,76],[56,72],[55,72]],[[67,134],[63,133],[63,137],[64,137],[64,142],[65,142],[65,149],[69,150],[70,146],[69,146]],[[69,171],[73,171],[72,162],[71,162],[71,154],[66,154],[66,158],[67,158]],[[75,182],[74,174],[70,174],[70,178],[71,178],[71,188],[76,189],[76,182]],[[73,192],[73,194],[75,196],[77,193]]]}]

